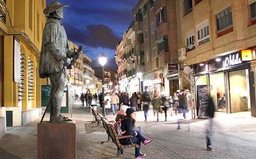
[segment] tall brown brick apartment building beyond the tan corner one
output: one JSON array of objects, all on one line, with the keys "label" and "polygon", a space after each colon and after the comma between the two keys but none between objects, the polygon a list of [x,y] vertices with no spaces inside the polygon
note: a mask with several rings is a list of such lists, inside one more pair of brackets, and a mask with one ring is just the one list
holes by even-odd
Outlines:
[{"label": "tall brown brick apartment building beyond the tan corner one", "polygon": [[135,59],[140,78],[140,91],[172,93],[172,80],[167,63],[178,62],[175,1],[140,0],[134,7]]}]

